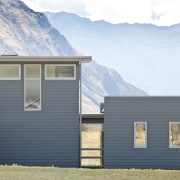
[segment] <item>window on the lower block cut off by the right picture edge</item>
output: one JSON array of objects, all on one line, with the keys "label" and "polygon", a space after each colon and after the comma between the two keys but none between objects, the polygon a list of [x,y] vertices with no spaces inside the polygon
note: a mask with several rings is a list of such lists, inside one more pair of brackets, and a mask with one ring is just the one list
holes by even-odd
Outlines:
[{"label": "window on the lower block cut off by the right picture edge", "polygon": [[169,123],[169,147],[180,148],[180,122]]}]

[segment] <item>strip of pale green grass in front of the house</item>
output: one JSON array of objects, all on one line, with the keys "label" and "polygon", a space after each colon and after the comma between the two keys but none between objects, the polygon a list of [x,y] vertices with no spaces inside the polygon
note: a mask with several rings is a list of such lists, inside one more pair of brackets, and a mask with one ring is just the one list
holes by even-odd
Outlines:
[{"label": "strip of pale green grass in front of the house", "polygon": [[179,180],[180,171],[0,166],[0,180]]}]

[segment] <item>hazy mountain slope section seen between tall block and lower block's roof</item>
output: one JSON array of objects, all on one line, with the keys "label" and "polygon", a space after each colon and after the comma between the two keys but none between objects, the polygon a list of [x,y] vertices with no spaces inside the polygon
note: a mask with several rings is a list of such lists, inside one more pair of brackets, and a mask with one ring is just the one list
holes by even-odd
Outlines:
[{"label": "hazy mountain slope section seen between tall block and lower block's roof", "polygon": [[147,95],[124,81],[114,69],[99,65],[95,61],[83,65],[82,81],[83,112],[85,113],[99,112],[99,103],[104,101],[104,96]]}]

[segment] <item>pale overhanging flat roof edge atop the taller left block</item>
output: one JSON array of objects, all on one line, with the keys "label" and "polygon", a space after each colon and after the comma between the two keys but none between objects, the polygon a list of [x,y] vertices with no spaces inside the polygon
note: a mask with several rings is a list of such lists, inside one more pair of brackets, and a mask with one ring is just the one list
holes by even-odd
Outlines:
[{"label": "pale overhanging flat roof edge atop the taller left block", "polygon": [[16,56],[1,55],[1,62],[80,62],[89,63],[92,56]]}]

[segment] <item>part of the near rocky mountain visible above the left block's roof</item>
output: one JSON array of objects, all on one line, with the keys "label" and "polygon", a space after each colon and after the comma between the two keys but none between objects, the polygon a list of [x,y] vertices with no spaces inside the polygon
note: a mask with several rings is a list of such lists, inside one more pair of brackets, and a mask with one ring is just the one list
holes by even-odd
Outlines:
[{"label": "part of the near rocky mountain visible above the left block's roof", "polygon": [[18,0],[0,0],[0,52],[19,55],[76,55],[43,13]]}]

